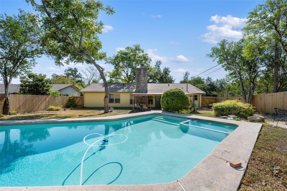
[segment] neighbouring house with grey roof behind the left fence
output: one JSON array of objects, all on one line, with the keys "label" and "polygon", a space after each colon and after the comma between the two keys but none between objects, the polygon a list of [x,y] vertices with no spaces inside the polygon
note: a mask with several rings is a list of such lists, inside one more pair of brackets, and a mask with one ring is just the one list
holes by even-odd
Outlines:
[{"label": "neighbouring house with grey roof behind the left fence", "polygon": [[[60,95],[64,96],[73,96],[77,93],[77,96],[81,96],[79,88],[74,86],[73,84],[51,84],[52,90],[58,90]],[[20,84],[10,84],[10,94],[17,94],[20,89]],[[1,94],[5,93],[4,84],[0,84],[0,92]]]}]

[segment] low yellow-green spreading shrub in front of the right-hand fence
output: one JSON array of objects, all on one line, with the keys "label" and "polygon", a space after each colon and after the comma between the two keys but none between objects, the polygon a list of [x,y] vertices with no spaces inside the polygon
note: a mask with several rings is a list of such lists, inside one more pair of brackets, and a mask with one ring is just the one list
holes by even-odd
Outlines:
[{"label": "low yellow-green spreading shrub in front of the right-hand fence", "polygon": [[226,100],[212,104],[213,114],[218,115],[236,115],[238,117],[247,118],[253,116],[253,110],[249,103],[243,103],[239,100]]}]

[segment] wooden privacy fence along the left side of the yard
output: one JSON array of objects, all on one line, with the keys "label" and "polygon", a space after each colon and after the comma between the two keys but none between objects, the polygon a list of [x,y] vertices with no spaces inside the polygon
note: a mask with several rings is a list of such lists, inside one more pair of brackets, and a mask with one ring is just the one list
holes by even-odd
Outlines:
[{"label": "wooden privacy fence along the left side of the yard", "polygon": [[[67,107],[69,96],[10,94],[10,111],[17,113],[48,110],[50,105]],[[0,94],[0,113],[3,113],[5,95]]]}]

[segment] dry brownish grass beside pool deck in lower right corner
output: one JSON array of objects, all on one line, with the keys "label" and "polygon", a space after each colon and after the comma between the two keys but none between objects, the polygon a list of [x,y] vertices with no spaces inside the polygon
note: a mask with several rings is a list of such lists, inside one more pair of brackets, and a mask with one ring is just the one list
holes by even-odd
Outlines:
[{"label": "dry brownish grass beside pool deck in lower right corner", "polygon": [[287,191],[287,129],[263,123],[239,190]]}]

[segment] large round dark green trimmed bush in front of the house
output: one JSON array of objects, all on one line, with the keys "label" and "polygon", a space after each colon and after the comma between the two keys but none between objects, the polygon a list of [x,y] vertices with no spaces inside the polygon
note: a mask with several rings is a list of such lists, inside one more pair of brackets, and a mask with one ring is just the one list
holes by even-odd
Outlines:
[{"label": "large round dark green trimmed bush in front of the house", "polygon": [[187,109],[189,102],[188,97],[179,88],[173,88],[163,92],[160,99],[160,105],[164,110],[176,112],[179,110]]}]

